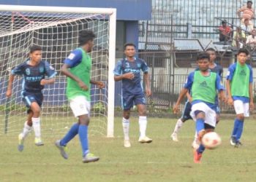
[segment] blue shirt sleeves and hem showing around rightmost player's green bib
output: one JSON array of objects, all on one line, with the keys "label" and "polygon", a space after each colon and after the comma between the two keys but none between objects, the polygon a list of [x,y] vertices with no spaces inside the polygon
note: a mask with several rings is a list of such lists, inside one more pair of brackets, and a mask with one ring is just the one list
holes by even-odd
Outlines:
[{"label": "blue shirt sleeves and hem showing around rightmost player's green bib", "polygon": [[[249,67],[249,83],[252,83],[253,82],[252,67],[249,65],[247,66]],[[235,71],[236,71],[236,63],[233,63],[228,68],[226,79],[232,81]],[[233,96],[233,99],[242,100],[244,103],[249,103],[249,98],[246,98],[246,97]]]}]

